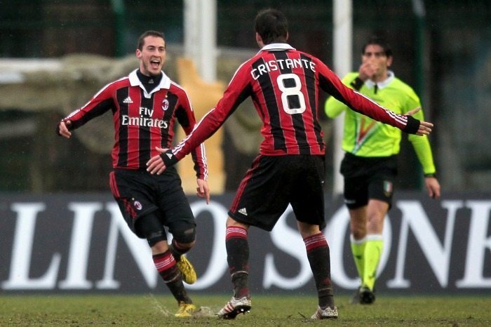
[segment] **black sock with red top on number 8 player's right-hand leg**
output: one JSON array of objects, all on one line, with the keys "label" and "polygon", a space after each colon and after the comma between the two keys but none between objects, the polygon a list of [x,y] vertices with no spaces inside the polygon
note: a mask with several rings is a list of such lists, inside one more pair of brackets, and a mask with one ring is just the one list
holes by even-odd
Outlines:
[{"label": "black sock with red top on number 8 player's right-hand leg", "polygon": [[324,234],[319,233],[304,239],[307,248],[310,268],[316,281],[318,305],[322,309],[334,308],[334,297],[332,293],[332,281],[330,273],[329,245]]}]

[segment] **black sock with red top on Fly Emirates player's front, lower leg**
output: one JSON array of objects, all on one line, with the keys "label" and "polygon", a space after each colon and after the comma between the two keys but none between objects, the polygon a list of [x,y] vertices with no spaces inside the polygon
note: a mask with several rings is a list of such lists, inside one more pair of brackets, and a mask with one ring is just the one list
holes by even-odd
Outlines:
[{"label": "black sock with red top on Fly Emirates player's front, lower leg", "polygon": [[170,290],[170,293],[174,295],[177,302],[192,303],[191,298],[187,295],[184,283],[182,283],[182,276],[179,269],[175,265],[175,259],[170,253],[166,251],[157,255],[153,255],[154,264],[162,277],[164,283]]}]

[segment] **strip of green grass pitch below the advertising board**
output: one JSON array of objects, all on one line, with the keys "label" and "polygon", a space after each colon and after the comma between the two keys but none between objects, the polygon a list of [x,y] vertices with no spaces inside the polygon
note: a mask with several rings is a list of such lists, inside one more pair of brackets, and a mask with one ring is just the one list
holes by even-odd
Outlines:
[{"label": "strip of green grass pitch below the advertising board", "polygon": [[253,296],[250,314],[221,320],[225,295],[194,295],[196,316],[177,319],[168,295],[0,295],[1,326],[491,326],[489,296],[380,295],[374,305],[349,305],[337,296],[339,319],[312,321],[314,295]]}]

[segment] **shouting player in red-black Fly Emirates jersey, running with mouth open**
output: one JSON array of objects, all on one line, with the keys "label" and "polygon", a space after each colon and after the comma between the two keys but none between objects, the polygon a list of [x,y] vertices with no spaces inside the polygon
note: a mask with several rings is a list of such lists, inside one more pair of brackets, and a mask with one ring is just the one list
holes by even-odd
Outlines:
[{"label": "shouting player in red-black Fly Emirates jersey, running with mouth open", "polygon": [[[62,119],[58,135],[72,131],[107,111],[114,123],[113,171],[109,182],[114,199],[130,229],[147,239],[156,269],[179,305],[178,317],[191,316],[196,307],[183,280],[196,281],[196,272],[184,256],[196,237],[196,222],[175,168],[163,175],[147,172],[147,161],[170,147],[178,122],[188,135],[196,119],[186,92],[164,72],[166,41],[163,33],[147,31],[138,39],[140,68],[107,84],[86,105]],[[206,157],[200,143],[191,149],[197,195],[210,201]],[[168,244],[165,227],[173,234]]]}]

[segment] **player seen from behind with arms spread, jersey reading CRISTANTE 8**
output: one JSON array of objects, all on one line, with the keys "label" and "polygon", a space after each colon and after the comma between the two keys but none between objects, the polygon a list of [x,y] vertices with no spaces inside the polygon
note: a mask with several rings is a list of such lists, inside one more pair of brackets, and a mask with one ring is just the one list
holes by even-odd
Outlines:
[{"label": "player seen from behind with arms spread, jersey reading CRISTANTE 8", "polygon": [[318,121],[319,92],[322,89],[352,109],[408,133],[430,133],[432,124],[380,107],[344,86],[321,60],[287,44],[288,22],[280,11],[260,11],[255,30],[259,53],[238,67],[223,98],[187,138],[174,149],[159,149],[162,153],[149,160],[148,171],[162,173],[182,159],[250,96],[263,122],[264,141],[229,208],[226,248],[234,296],[218,316],[234,319],[250,310],[248,228],[271,231],[291,204],[318,293],[318,308],[311,318],[337,318],[330,251],[321,232],[325,227],[325,145]]}]

